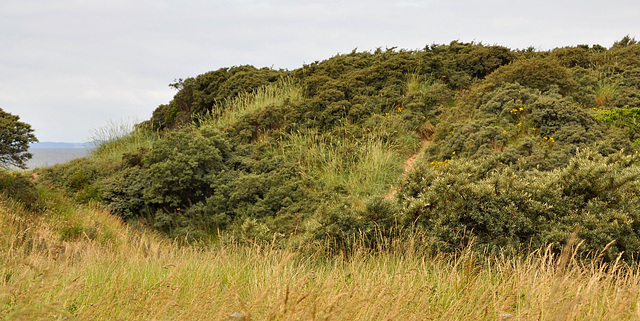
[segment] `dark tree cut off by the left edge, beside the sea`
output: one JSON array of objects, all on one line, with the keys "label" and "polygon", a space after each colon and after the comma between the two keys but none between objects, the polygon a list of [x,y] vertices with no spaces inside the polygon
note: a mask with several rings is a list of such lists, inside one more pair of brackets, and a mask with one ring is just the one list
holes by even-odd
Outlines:
[{"label": "dark tree cut off by the left edge, beside the sea", "polygon": [[29,144],[38,139],[31,125],[19,120],[20,117],[0,108],[0,167],[26,168],[25,162],[32,156],[27,152]]}]

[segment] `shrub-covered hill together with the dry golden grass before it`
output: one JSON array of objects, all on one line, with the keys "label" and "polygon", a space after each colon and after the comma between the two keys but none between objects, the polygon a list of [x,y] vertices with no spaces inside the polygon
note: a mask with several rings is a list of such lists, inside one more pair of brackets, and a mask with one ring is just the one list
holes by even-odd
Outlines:
[{"label": "shrub-covered hill together with the dry golden grass before it", "polygon": [[640,318],[638,66],[454,41],[180,79],[2,174],[0,317]]}]

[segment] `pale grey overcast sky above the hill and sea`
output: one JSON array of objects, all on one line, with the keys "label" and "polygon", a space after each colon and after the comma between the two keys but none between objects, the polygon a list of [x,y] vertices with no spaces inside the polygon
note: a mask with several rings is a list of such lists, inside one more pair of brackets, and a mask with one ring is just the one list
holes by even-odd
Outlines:
[{"label": "pale grey overcast sky above the hill and sea", "polygon": [[638,12],[637,0],[0,0],[0,108],[41,142],[84,142],[223,67],[453,40],[608,48],[640,37]]}]

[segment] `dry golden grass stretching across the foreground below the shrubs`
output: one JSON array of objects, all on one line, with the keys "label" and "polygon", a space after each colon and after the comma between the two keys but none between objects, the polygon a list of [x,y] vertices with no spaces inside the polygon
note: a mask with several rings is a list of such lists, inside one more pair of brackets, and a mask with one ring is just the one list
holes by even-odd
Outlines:
[{"label": "dry golden grass stretching across the foreground below the shrubs", "polygon": [[[418,237],[331,257],[185,246],[97,207],[47,202],[32,214],[0,198],[2,320],[640,319],[640,271],[580,264],[573,251],[434,256]],[[81,232],[64,240],[69,226]]]}]

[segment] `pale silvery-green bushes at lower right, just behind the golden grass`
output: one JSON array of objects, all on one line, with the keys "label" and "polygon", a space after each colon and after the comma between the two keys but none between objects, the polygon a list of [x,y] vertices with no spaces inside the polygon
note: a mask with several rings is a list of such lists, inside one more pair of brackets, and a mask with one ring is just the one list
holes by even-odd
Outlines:
[{"label": "pale silvery-green bushes at lower right, just behind the golden grass", "polygon": [[578,229],[587,250],[613,260],[638,255],[637,156],[582,152],[550,172],[518,172],[495,161],[423,164],[402,184],[404,222],[416,222],[445,251],[475,239],[481,247],[560,250]]}]

